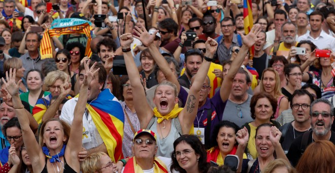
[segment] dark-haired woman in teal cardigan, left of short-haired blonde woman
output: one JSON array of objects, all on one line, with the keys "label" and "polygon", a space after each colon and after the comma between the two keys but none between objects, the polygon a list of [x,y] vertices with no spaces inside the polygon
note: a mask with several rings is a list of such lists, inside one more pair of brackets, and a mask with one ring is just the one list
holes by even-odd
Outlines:
[{"label": "dark-haired woman in teal cardigan, left of short-haired blonde woman", "polygon": [[42,72],[38,69],[31,69],[27,73],[26,80],[29,91],[20,94],[20,99],[29,103],[30,113],[32,113],[38,99],[50,94],[50,92],[42,90],[43,79]]}]

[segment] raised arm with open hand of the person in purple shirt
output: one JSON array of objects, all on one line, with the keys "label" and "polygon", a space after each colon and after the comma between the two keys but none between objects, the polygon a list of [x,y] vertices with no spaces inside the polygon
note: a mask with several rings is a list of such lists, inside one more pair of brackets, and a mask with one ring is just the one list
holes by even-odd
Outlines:
[{"label": "raised arm with open hand of the person in purple shirt", "polygon": [[264,39],[263,37],[258,37],[258,34],[261,32],[260,25],[255,24],[248,35],[244,36],[242,33],[239,32],[241,35],[243,45],[235,57],[234,61],[232,61],[228,74],[223,79],[221,88],[220,88],[220,96],[223,102],[225,102],[230,95],[230,91],[232,88],[233,79],[238,72],[239,68],[241,67],[244,58],[246,57],[248,50],[251,46],[253,46],[257,41]]}]

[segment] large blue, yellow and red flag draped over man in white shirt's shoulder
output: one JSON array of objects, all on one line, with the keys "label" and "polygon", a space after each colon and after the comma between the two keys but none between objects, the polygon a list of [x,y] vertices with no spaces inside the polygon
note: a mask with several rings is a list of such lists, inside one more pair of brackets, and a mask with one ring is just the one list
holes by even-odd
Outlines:
[{"label": "large blue, yellow and red flag draped over man in white shirt's shoulder", "polygon": [[101,138],[104,140],[109,157],[115,162],[123,159],[124,113],[117,98],[109,89],[105,89],[95,100],[87,103],[86,107]]}]

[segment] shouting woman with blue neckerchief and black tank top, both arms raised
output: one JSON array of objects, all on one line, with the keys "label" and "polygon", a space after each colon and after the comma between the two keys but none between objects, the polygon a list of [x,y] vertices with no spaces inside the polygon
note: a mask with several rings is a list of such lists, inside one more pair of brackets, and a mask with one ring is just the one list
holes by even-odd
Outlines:
[{"label": "shouting woman with blue neckerchief and black tank top, both arms raised", "polygon": [[[93,71],[93,67],[89,69],[87,64],[84,65],[86,73],[81,86],[81,94],[75,107],[71,131],[70,126],[64,121],[48,119],[41,127],[40,143],[37,142],[28,125],[28,116],[30,115],[22,109],[23,106],[18,95],[18,84],[15,82],[15,69],[13,73],[10,71],[9,76],[7,73],[8,82],[3,79],[6,89],[13,98],[13,106],[17,111],[22,129],[22,138],[26,144],[29,158],[34,161],[32,169],[35,172],[51,172],[55,171],[55,168],[59,172],[65,172],[65,170],[66,172],[80,171],[78,154],[81,152],[81,147],[78,147],[78,143],[82,141],[82,121],[87,102],[88,86],[94,73],[98,71],[98,69]],[[61,87],[68,89],[70,86],[68,83],[63,83]]]}]

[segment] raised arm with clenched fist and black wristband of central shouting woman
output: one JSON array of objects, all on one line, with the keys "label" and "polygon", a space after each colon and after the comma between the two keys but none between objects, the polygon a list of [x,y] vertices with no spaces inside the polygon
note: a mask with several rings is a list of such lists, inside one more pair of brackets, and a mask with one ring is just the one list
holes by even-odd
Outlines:
[{"label": "raised arm with clenched fist and black wristband of central shouting woman", "polygon": [[[120,44],[122,49],[130,48],[133,38],[130,33],[126,33],[120,36]],[[123,52],[124,62],[126,64],[127,73],[132,87],[135,110],[140,120],[141,129],[147,128],[151,118],[153,117],[153,110],[151,109],[147,98],[145,96],[144,88],[141,83],[140,73],[136,67],[136,64],[132,58],[130,51]]]}]

